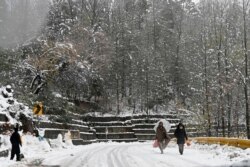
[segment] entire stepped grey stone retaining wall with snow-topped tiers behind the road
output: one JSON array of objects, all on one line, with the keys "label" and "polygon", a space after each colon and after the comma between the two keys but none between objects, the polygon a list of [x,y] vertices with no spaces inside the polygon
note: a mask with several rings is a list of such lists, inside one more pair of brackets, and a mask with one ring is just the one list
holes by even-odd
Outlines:
[{"label": "entire stepped grey stone retaining wall with snow-topped tiers behind the road", "polygon": [[[58,134],[65,135],[71,132],[72,142],[74,145],[84,145],[93,142],[134,142],[154,140],[155,123],[160,119],[166,119],[170,122],[172,128],[169,132],[171,138],[176,125],[180,122],[177,115],[134,115],[126,117],[94,117],[70,115],[67,116],[67,123],[59,123],[55,120],[41,121],[34,120],[39,129],[44,130],[44,137],[56,139]],[[5,121],[5,114],[0,113],[0,123]],[[189,137],[197,136],[195,127],[186,126]],[[0,129],[1,132],[1,129]]]}]

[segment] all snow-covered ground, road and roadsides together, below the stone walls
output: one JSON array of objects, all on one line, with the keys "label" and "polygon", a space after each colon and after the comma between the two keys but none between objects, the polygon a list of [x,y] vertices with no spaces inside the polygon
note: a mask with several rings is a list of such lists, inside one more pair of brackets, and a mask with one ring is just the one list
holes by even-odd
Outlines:
[{"label": "all snow-covered ground, road and roadsides together, below the stone walls", "polygon": [[40,142],[35,137],[28,136],[24,140],[22,152],[25,158],[21,162],[10,161],[9,157],[0,158],[1,167],[199,167],[230,166],[250,159],[250,149],[218,145],[192,144],[185,147],[184,155],[179,155],[174,142],[160,154],[152,147],[152,142],[71,146],[57,141],[58,147],[51,148],[46,141]]}]

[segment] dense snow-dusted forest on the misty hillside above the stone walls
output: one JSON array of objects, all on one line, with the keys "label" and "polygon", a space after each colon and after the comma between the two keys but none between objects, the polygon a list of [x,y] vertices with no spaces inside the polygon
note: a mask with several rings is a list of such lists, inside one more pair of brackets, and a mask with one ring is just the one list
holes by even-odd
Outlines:
[{"label": "dense snow-dusted forest on the misty hillside above the stone walls", "polygon": [[[59,112],[202,116],[250,138],[249,0],[1,0],[0,83]],[[34,31],[34,27],[36,31]],[[77,105],[76,105],[77,106]]]}]

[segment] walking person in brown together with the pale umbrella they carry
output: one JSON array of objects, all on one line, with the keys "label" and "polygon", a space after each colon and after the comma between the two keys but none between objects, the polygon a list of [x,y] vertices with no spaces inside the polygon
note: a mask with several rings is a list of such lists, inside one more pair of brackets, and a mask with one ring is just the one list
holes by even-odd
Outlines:
[{"label": "walking person in brown together with the pale umbrella they carry", "polygon": [[161,150],[161,154],[163,154],[163,150],[167,147],[170,137],[167,134],[166,129],[163,126],[163,123],[160,122],[156,129],[156,140],[159,142],[159,148]]}]

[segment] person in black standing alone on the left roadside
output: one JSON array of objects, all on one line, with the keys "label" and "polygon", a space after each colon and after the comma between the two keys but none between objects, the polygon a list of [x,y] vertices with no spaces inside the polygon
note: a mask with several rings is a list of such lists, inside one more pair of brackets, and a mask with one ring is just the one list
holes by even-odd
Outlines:
[{"label": "person in black standing alone on the left roadside", "polygon": [[18,127],[14,128],[14,133],[10,137],[10,142],[12,144],[10,160],[14,159],[16,155],[16,160],[20,161],[20,146],[22,146],[21,136],[18,133]]}]

